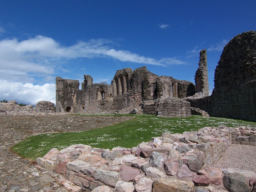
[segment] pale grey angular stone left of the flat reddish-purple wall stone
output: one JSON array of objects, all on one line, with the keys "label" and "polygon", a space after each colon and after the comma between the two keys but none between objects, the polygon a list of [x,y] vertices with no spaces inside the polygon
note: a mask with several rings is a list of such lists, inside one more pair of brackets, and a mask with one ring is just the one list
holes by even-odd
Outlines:
[{"label": "pale grey angular stone left of the flat reddish-purple wall stone", "polygon": [[118,181],[119,173],[115,171],[105,171],[101,169],[96,169],[93,174],[95,180],[99,180],[102,183],[115,187]]}]

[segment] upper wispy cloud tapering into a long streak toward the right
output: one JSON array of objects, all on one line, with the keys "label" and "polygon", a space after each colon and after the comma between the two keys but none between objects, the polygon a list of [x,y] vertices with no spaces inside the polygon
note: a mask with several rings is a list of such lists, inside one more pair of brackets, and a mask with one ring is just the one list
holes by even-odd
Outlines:
[{"label": "upper wispy cloud tapering into a long streak toward the right", "polygon": [[[68,59],[109,57],[120,61],[149,65],[181,64],[174,58],[154,59],[111,47],[114,42],[106,39],[80,41],[72,46],[62,46],[50,37],[36,36],[28,40],[4,39],[0,41],[0,75],[8,76],[8,81],[23,79],[23,83],[33,82],[35,76],[52,76],[59,63]],[[3,77],[2,77],[3,78]]]}]

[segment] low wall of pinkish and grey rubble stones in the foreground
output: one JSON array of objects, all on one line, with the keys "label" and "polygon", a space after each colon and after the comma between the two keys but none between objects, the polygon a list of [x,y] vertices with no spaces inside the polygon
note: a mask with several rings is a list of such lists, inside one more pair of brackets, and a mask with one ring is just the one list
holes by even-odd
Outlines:
[{"label": "low wall of pinkish and grey rubble stones in the foreground", "polygon": [[[36,162],[62,174],[85,191],[151,192],[154,188],[155,192],[167,188],[192,192],[195,184],[222,183],[222,170],[212,165],[232,140],[236,143],[240,138],[247,140],[245,137],[255,145],[255,128],[220,125],[183,134],[162,133],[161,137],[131,149],[115,147],[109,150],[83,144],[60,151],[53,148]],[[241,144],[248,143],[241,141]],[[256,179],[256,174],[252,175]]]}]

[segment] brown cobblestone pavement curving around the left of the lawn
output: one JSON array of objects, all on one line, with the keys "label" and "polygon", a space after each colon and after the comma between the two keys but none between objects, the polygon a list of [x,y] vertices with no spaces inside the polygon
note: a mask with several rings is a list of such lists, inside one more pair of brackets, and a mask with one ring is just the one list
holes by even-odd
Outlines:
[{"label": "brown cobblestone pavement curving around the left of the lawn", "polygon": [[[127,116],[0,115],[0,191],[68,191],[61,184],[63,179],[59,175],[40,170],[36,164],[13,154],[10,151],[13,144],[32,134],[85,131],[131,118]],[[68,185],[66,183],[65,186],[68,187]]]}]

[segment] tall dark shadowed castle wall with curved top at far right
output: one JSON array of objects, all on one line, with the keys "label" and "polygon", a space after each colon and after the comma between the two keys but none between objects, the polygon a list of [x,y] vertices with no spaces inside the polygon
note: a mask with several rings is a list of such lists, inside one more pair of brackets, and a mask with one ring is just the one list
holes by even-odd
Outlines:
[{"label": "tall dark shadowed castle wall with curved top at far right", "polygon": [[256,121],[256,31],[235,36],[224,47],[210,97],[186,98],[210,116]]}]

